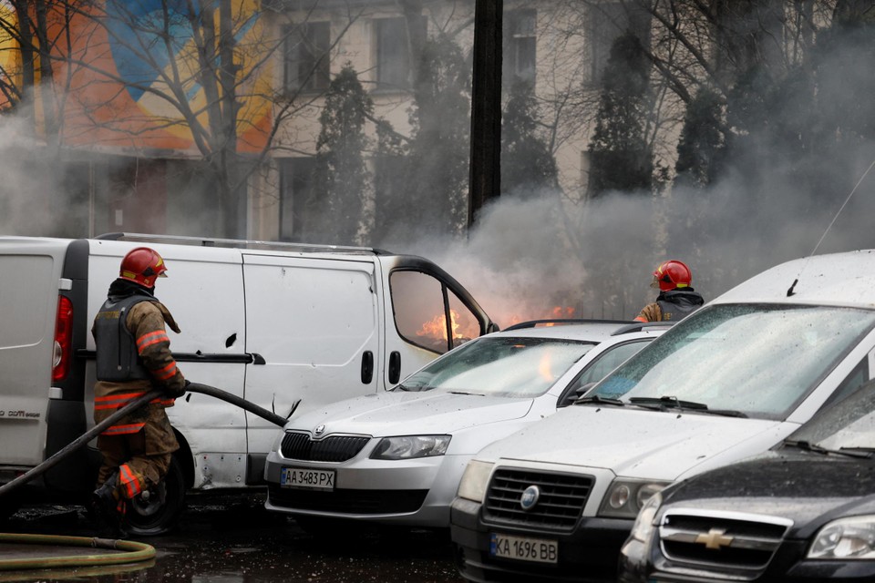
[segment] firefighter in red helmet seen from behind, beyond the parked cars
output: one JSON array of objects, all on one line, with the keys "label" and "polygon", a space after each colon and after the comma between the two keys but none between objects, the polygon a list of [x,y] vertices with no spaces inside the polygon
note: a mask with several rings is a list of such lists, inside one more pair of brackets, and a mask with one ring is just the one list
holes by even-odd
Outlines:
[{"label": "firefighter in red helmet seen from behind, beyond the parked cars", "polygon": [[650,287],[659,289],[656,301],[643,307],[637,322],[677,322],[695,312],[705,300],[693,289],[693,272],[683,261],[663,261],[654,270]]}]

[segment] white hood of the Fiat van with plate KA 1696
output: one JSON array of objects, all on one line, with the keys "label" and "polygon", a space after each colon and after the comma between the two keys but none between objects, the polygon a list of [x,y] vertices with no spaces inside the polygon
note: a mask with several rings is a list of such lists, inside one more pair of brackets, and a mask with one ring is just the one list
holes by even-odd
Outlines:
[{"label": "white hood of the Fiat van with plate KA 1696", "polygon": [[726,464],[762,453],[797,427],[678,411],[572,405],[488,445],[477,459],[582,465],[609,469],[617,476],[675,480],[718,456]]}]

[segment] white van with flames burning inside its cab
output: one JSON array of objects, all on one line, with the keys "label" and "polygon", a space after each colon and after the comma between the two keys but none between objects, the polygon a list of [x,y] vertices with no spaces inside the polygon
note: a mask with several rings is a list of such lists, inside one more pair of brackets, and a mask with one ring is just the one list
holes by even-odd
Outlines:
[{"label": "white van with flames burning inside its cab", "polygon": [[[93,426],[91,323],[121,258],[141,245],[167,264],[156,296],[180,324],[170,348],[185,377],[286,418],[384,391],[496,329],[458,281],[414,256],[154,235],[0,237],[0,484]],[[187,394],[168,414],[180,441],[169,500],[143,516],[133,505],[139,534],[169,527],[188,488],[262,484],[280,431],[204,394]],[[89,492],[98,460],[96,450],[80,450],[28,486]],[[7,509],[14,502],[0,501]]]}]

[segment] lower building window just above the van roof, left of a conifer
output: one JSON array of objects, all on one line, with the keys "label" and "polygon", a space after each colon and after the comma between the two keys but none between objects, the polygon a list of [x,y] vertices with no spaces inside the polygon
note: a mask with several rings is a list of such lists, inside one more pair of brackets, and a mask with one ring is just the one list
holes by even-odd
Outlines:
[{"label": "lower building window just above the van roof, left of a conifer", "polygon": [[303,240],[313,228],[315,159],[280,161],[280,239]]}]

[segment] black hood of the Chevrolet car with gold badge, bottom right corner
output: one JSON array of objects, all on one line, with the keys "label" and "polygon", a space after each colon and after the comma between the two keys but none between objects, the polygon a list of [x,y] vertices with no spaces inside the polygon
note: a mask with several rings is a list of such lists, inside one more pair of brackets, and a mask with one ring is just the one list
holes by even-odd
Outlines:
[{"label": "black hood of the Chevrolet car with gold badge, bottom right corner", "polygon": [[[875,511],[875,461],[793,450],[705,472],[665,492],[663,509],[684,507],[786,517],[810,524]],[[822,520],[817,520],[823,517]],[[805,536],[801,534],[800,536]]]}]

